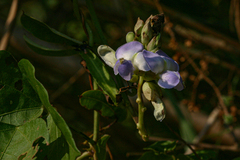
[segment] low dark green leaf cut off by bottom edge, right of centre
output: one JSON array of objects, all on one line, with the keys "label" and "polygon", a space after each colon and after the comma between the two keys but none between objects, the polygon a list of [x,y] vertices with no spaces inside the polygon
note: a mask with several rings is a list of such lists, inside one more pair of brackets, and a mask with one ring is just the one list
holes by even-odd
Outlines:
[{"label": "low dark green leaf cut off by bottom edge, right of centre", "polygon": [[174,160],[174,158],[170,155],[165,155],[165,154],[156,154],[155,152],[149,151],[144,153],[139,160]]}]

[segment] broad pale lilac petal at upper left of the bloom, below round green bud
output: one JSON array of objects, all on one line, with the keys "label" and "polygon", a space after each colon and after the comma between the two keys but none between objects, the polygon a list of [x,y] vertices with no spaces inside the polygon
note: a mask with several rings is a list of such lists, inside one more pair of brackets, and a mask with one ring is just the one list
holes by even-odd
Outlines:
[{"label": "broad pale lilac petal at upper left of the bloom, below round green bud", "polygon": [[133,55],[137,52],[140,52],[143,50],[143,45],[142,43],[138,41],[132,41],[129,43],[126,43],[119,47],[116,51],[116,58],[124,58],[126,60],[131,60]]}]

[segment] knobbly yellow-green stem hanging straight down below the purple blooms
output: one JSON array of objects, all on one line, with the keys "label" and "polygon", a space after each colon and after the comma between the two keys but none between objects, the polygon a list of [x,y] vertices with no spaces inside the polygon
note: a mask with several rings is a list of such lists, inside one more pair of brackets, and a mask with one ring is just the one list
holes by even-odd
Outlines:
[{"label": "knobbly yellow-green stem hanging straight down below the purple blooms", "polygon": [[143,77],[140,76],[138,81],[137,100],[136,100],[136,102],[138,103],[137,129],[138,129],[138,133],[142,136],[142,139],[144,141],[147,141],[148,135],[144,127],[144,112],[146,111],[146,108],[144,107],[143,100],[142,100],[142,85],[143,85]]}]

